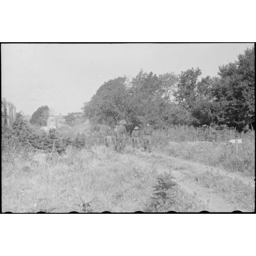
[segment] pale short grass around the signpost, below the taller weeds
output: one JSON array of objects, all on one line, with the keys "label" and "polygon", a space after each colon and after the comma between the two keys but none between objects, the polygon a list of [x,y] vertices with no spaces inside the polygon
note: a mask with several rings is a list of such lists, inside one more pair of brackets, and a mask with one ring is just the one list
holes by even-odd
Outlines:
[{"label": "pale short grass around the signpost, below the taller weeds", "polygon": [[170,156],[222,167],[245,176],[253,177],[255,175],[255,144],[253,140],[248,142],[244,140],[243,144],[239,144],[238,156],[235,155],[234,144],[207,141],[170,142],[165,150]]}]

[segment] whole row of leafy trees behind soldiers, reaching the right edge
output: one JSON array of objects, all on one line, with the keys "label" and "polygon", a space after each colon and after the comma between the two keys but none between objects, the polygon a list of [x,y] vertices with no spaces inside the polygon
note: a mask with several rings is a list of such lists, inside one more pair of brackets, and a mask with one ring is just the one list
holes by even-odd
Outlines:
[{"label": "whole row of leafy trees behind soldiers, reaching the right edge", "polygon": [[[128,129],[150,122],[235,127],[255,125],[255,49],[219,67],[217,77],[199,79],[200,68],[156,75],[143,70],[136,77],[105,82],[82,108],[94,123],[114,125],[127,120]],[[173,98],[171,97],[173,96]]]}]

